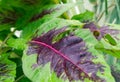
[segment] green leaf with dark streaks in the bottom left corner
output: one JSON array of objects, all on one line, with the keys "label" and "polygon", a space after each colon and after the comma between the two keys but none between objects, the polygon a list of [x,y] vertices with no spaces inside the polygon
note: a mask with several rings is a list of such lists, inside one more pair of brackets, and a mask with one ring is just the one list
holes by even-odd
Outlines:
[{"label": "green leaf with dark streaks in the bottom left corner", "polygon": [[14,82],[16,64],[8,60],[8,54],[0,55],[0,82]]}]

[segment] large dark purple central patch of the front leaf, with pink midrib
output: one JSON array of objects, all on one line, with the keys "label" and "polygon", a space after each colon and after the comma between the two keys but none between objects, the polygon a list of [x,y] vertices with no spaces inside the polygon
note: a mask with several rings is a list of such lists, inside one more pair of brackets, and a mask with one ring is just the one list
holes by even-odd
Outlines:
[{"label": "large dark purple central patch of the front leaf, with pink midrib", "polygon": [[37,64],[45,65],[51,63],[51,69],[58,77],[69,79],[69,81],[88,78],[93,81],[104,82],[97,76],[97,72],[104,72],[101,64],[92,60],[96,59],[85,47],[85,42],[74,35],[68,35],[59,41],[52,43],[55,35],[64,32],[66,28],[51,30],[30,42],[27,54],[37,53]]}]

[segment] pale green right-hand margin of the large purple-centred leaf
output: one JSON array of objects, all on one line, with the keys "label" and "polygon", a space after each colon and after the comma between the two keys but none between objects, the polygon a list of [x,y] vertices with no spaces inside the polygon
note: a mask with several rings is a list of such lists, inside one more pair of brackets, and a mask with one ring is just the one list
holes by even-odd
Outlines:
[{"label": "pale green right-hand margin of the large purple-centred leaf", "polygon": [[96,59],[93,60],[94,63],[100,63],[103,66],[105,66],[103,74],[98,72],[98,76],[100,76],[101,78],[104,78],[106,80],[106,82],[115,82],[114,78],[111,75],[110,67],[106,63],[102,53],[98,52],[98,50],[96,50],[94,48],[94,46],[98,43],[98,41],[97,41],[97,39],[95,39],[93,34],[90,32],[90,30],[77,29],[75,31],[75,35],[77,35],[78,37],[81,37],[86,42],[87,47],[88,47],[88,51],[96,56]]}]

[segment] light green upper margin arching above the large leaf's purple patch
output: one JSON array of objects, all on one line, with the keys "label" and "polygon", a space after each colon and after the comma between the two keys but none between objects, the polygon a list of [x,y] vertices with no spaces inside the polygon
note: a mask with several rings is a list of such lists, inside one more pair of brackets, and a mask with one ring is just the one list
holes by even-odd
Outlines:
[{"label": "light green upper margin arching above the large leaf's purple patch", "polygon": [[65,20],[61,18],[54,18],[38,28],[38,35],[42,32],[48,32],[53,28],[62,28],[64,26],[82,26],[83,24],[76,20]]}]

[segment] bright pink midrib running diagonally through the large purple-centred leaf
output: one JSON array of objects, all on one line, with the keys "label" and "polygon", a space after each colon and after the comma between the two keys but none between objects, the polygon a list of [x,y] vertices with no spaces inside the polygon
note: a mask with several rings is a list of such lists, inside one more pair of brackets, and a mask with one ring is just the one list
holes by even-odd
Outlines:
[{"label": "bright pink midrib running diagonally through the large purple-centred leaf", "polygon": [[55,48],[51,47],[50,45],[47,45],[46,43],[43,42],[38,42],[38,41],[31,41],[32,43],[36,43],[39,45],[43,45],[45,47],[50,48],[51,50],[53,50],[55,53],[59,54],[60,56],[62,56],[64,59],[66,59],[67,61],[71,62],[72,64],[74,64],[76,67],[78,67],[81,71],[83,71],[88,77],[89,75],[82,69],[80,68],[78,65],[76,65],[74,62],[72,62],[68,57],[66,57],[63,53],[59,52],[58,50],[56,50]]}]

